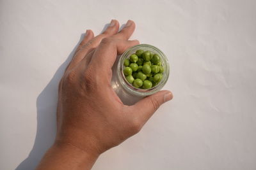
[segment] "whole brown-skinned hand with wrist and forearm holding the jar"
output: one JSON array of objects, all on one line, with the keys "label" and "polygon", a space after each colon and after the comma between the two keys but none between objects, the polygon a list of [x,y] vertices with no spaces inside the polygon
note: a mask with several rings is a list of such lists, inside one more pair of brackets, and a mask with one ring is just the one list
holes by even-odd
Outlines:
[{"label": "whole brown-skinned hand with wrist and forearm holding the jar", "polygon": [[138,133],[172,99],[163,90],[126,106],[116,96],[111,87],[116,55],[139,43],[128,40],[134,22],[118,29],[118,21],[112,20],[98,36],[86,32],[60,81],[56,139],[36,169],[91,169],[101,153]]}]

